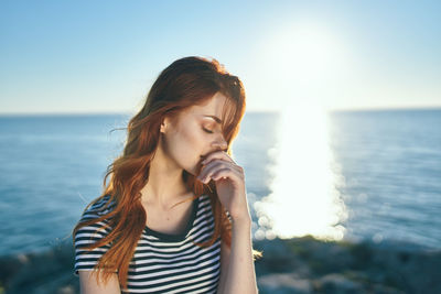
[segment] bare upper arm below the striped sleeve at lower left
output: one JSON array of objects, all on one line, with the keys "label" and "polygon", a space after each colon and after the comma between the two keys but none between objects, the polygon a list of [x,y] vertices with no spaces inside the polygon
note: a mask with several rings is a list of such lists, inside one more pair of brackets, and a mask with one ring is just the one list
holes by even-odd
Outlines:
[{"label": "bare upper arm below the striped sleeve at lower left", "polygon": [[[93,271],[78,271],[80,294],[121,294],[118,275],[111,274],[107,284],[99,284],[96,281],[96,273]],[[101,280],[100,280],[101,281]]]}]

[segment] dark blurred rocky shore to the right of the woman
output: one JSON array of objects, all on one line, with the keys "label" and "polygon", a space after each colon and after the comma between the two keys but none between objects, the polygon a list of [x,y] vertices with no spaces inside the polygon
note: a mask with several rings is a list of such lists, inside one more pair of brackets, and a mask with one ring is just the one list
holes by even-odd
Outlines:
[{"label": "dark blurred rocky shore to the right of the woman", "polygon": [[441,250],[405,243],[256,242],[259,293],[441,293]]}]

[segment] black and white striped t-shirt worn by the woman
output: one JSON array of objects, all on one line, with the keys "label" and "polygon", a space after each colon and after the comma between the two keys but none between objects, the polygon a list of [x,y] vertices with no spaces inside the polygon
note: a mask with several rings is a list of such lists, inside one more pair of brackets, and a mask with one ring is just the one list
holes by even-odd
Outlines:
[{"label": "black and white striped t-shirt worn by the woman", "polygon": [[[83,220],[106,214],[103,211],[108,196],[90,206],[82,216]],[[92,251],[82,246],[96,242],[109,232],[97,229],[107,220],[82,227],[75,235],[75,275],[78,270],[93,270],[109,244]],[[138,241],[135,255],[129,264],[127,290],[121,293],[216,293],[220,274],[220,239],[213,246],[201,248],[192,242],[211,239],[214,218],[207,195],[193,200],[193,211],[184,233],[168,235],[151,230],[146,226]]]}]

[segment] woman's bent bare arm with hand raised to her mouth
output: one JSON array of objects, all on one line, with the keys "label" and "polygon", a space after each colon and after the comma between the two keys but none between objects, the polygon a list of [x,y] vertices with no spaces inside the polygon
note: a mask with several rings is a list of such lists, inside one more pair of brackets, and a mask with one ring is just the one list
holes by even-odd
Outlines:
[{"label": "woman's bent bare arm with hand raised to her mouth", "polygon": [[[202,164],[197,178],[204,184],[208,184],[211,179],[215,181],[217,196],[232,217],[232,251],[229,254],[226,250],[220,253],[220,259],[227,259],[228,265],[220,261],[224,264],[220,269],[218,291],[220,294],[258,293],[245,171],[222,150],[209,153]],[[229,257],[225,258],[226,254]]]}]

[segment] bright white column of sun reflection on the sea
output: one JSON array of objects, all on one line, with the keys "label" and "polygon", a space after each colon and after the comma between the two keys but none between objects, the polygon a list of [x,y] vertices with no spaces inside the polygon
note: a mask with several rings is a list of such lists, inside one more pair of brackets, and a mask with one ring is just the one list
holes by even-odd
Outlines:
[{"label": "bright white column of sun reflection on the sea", "polygon": [[275,165],[271,194],[255,203],[259,229],[256,239],[301,237],[341,240],[347,210],[333,168],[327,116],[314,105],[288,106],[276,130],[270,151]]}]

